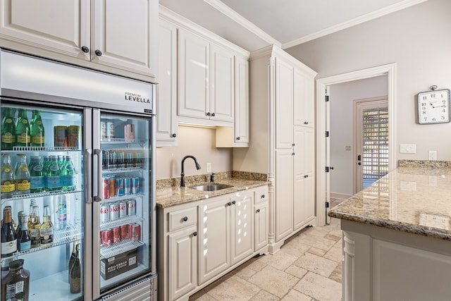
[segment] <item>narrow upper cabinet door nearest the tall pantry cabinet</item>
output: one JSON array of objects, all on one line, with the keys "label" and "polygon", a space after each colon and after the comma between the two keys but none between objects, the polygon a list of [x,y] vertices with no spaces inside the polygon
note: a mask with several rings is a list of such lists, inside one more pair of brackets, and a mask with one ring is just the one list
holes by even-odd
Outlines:
[{"label": "narrow upper cabinet door nearest the tall pantry cabinet", "polygon": [[249,61],[235,57],[235,143],[249,142]]}]

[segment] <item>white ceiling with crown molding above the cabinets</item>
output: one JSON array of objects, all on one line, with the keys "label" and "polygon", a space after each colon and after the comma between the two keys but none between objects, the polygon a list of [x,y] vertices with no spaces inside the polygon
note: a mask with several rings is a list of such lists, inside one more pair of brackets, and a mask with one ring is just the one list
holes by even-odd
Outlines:
[{"label": "white ceiling with crown molding above the cabinets", "polygon": [[159,0],[162,6],[254,51],[287,49],[427,0]]}]

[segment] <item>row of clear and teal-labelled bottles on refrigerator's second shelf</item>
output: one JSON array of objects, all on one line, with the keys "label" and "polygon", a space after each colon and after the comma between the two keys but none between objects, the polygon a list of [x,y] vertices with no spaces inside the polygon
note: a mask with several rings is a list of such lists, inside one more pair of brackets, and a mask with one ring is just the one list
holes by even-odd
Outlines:
[{"label": "row of clear and teal-labelled bottles on refrigerator's second shelf", "polygon": [[11,154],[3,155],[1,166],[1,198],[13,195],[44,191],[75,190],[76,171],[72,157],[66,156],[31,156],[30,166],[27,165],[27,155],[20,157],[16,170],[11,165]]}]

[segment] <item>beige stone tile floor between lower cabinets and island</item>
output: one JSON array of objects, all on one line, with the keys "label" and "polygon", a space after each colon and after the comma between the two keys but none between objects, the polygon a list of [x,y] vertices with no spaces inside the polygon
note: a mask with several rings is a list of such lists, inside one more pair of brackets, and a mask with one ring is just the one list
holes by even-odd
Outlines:
[{"label": "beige stone tile floor between lower cabinets and island", "polygon": [[[331,207],[341,199],[331,199]],[[276,254],[257,256],[190,297],[190,301],[341,300],[340,221],[305,228]]]}]

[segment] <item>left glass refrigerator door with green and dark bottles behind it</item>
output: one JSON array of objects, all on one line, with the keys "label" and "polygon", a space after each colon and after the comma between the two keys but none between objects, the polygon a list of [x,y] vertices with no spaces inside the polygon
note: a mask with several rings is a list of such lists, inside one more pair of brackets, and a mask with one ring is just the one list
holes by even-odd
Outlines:
[{"label": "left glass refrigerator door with green and dark bottles behind it", "polygon": [[[12,257],[4,256],[4,250],[1,253],[2,300],[21,290],[27,291],[28,300],[82,300],[83,111],[31,102],[2,101],[0,107],[1,214],[3,219],[4,209],[11,207],[13,224],[18,227],[18,250]],[[13,128],[16,133],[10,135]],[[6,158],[11,159],[13,173],[7,172],[11,168]],[[9,280],[8,262],[15,259],[23,259],[23,269],[30,273],[29,285],[26,281],[14,285]],[[11,295],[4,299],[4,294]]]}]

